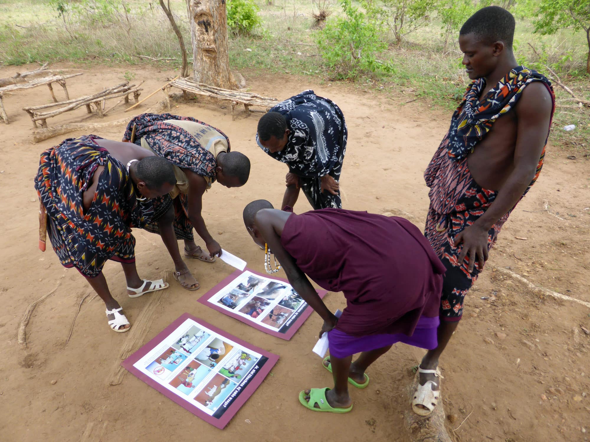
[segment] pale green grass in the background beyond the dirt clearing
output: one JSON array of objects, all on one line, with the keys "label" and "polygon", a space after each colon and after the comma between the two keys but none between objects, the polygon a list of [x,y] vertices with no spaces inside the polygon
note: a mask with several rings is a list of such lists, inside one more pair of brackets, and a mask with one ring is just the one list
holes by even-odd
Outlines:
[{"label": "pale green grass in the background beyond the dirt clearing", "polygon": [[[85,0],[87,1],[87,0]],[[109,6],[108,12],[96,13],[88,8],[70,10],[58,17],[49,0],[0,0],[0,64],[19,65],[45,61],[69,61],[78,64],[97,62],[106,64],[143,64],[138,55],[173,57],[180,63],[178,41],[157,2],[150,8],[142,0],[130,0],[127,14],[114,0],[94,0],[97,5]],[[83,5],[81,2],[67,2]],[[232,69],[251,74],[310,75],[318,81],[334,81],[332,72],[314,44],[317,27],[311,16],[313,4],[308,0],[258,0],[263,25],[248,37],[230,35]],[[171,1],[176,22],[185,35],[185,43],[192,60],[190,32],[184,0]],[[76,6],[76,7],[78,7]],[[72,6],[74,7],[74,6]],[[332,5],[332,16],[339,16],[340,7]],[[444,37],[436,21],[408,34],[400,47],[390,34],[381,38],[389,43],[379,60],[391,61],[394,70],[389,74],[367,73],[356,80],[363,88],[373,88],[383,94],[405,91],[406,97],[421,98],[425,102],[454,108],[468,81],[461,67],[461,53],[456,36],[444,51]],[[530,44],[530,45],[529,45]],[[517,19],[515,35],[516,56],[519,62],[548,74],[542,64],[549,64],[559,72],[563,83],[580,97],[590,97],[590,77],[585,74],[587,47],[585,35],[570,30],[555,35],[533,33],[532,24]],[[251,51],[248,51],[250,49]],[[150,62],[152,63],[152,62]],[[162,63],[164,64],[164,63]],[[166,64],[168,67],[171,64]],[[558,104],[573,105],[569,95],[555,85]],[[414,97],[412,97],[412,94]],[[576,130],[565,132],[566,124],[576,124]],[[553,123],[552,140],[568,150],[590,151],[590,110],[559,108]]]}]

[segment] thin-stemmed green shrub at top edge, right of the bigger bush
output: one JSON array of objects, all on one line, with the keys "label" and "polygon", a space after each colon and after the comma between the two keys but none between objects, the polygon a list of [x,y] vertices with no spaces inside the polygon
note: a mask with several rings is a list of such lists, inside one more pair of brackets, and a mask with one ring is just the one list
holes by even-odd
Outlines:
[{"label": "thin-stemmed green shrub at top edge, right of the bigger bush", "polygon": [[379,3],[375,0],[363,1],[367,14],[386,25],[394,34],[398,45],[404,35],[428,24],[428,13],[434,9],[435,4],[436,0],[382,0]]}]

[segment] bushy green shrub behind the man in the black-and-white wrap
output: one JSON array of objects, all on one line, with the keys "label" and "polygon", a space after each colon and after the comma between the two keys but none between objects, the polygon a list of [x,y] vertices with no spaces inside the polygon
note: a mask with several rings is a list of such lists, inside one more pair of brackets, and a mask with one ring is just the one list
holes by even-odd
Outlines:
[{"label": "bushy green shrub behind the man in the black-and-white wrap", "polygon": [[391,72],[392,67],[376,59],[386,50],[381,40],[381,29],[375,22],[352,6],[350,0],[342,0],[344,17],[326,22],[326,27],[316,34],[316,43],[327,65],[335,70],[338,78],[356,78],[363,72]]}]

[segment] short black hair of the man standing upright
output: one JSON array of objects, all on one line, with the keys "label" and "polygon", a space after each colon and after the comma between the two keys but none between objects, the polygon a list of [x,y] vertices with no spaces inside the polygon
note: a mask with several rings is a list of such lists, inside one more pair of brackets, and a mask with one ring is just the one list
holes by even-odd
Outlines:
[{"label": "short black hair of the man standing upright", "polygon": [[514,40],[514,17],[500,6],[481,8],[463,24],[459,35],[475,34],[486,43],[503,41],[512,51]]}]

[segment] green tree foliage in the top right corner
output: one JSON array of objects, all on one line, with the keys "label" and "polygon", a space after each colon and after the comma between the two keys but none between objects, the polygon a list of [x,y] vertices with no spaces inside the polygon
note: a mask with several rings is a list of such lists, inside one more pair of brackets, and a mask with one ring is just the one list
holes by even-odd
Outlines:
[{"label": "green tree foliage in the top right corner", "polygon": [[590,0],[541,0],[537,17],[533,20],[535,32],[542,35],[555,34],[565,28],[586,32],[586,72],[590,74]]}]

